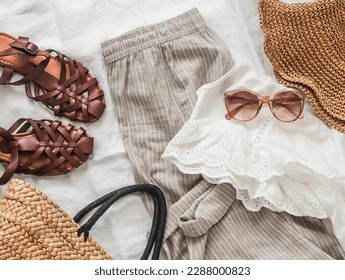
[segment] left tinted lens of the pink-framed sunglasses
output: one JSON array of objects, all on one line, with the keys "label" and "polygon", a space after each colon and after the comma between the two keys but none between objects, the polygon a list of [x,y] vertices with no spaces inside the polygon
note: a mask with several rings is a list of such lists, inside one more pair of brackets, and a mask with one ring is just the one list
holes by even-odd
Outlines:
[{"label": "left tinted lens of the pink-framed sunglasses", "polygon": [[249,121],[259,109],[259,99],[252,92],[238,91],[226,97],[226,107],[235,120]]}]

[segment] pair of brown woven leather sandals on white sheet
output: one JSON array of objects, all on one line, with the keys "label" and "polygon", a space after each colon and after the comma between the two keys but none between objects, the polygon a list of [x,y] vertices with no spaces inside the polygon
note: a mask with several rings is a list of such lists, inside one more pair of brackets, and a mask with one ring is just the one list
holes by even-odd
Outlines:
[{"label": "pair of brown woven leather sandals on white sheet", "polygon": [[[0,32],[0,84],[24,85],[26,95],[56,116],[90,123],[105,110],[96,78],[80,62],[52,49],[40,50],[26,37]],[[15,74],[21,75],[13,81]],[[0,185],[14,173],[66,174],[83,164],[93,151],[93,137],[83,128],[59,121],[19,119],[0,128]]]}]

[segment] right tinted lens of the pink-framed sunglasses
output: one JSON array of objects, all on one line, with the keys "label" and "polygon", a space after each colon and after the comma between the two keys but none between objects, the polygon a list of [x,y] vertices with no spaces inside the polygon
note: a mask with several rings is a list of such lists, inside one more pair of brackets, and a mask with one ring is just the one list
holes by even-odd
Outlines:
[{"label": "right tinted lens of the pink-framed sunglasses", "polygon": [[272,100],[272,113],[284,122],[297,120],[302,113],[301,97],[291,91],[276,94]]}]

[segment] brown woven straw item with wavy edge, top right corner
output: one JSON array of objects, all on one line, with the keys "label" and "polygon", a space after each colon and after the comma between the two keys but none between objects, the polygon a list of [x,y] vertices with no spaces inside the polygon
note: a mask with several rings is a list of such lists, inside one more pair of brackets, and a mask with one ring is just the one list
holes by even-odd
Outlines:
[{"label": "brown woven straw item with wavy edge, top right corner", "polygon": [[277,80],[301,89],[325,123],[345,132],[345,1],[259,0],[259,14]]}]

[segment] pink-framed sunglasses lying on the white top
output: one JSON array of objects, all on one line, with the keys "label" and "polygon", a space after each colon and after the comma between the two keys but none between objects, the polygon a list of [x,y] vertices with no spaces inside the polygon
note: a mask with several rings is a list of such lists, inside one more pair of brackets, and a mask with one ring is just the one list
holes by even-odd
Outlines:
[{"label": "pink-framed sunglasses lying on the white top", "polygon": [[250,121],[259,114],[262,105],[268,105],[273,116],[282,122],[303,118],[305,95],[298,90],[281,90],[271,96],[261,96],[249,89],[239,89],[225,92],[224,98],[228,120]]}]

